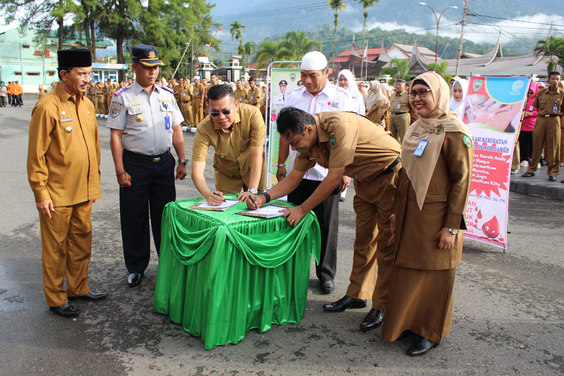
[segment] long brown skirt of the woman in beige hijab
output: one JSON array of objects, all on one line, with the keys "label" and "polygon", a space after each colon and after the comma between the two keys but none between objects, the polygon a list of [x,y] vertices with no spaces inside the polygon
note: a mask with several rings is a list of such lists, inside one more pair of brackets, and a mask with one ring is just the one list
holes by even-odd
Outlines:
[{"label": "long brown skirt of the woman in beige hijab", "polygon": [[395,266],[390,277],[382,338],[398,339],[411,330],[434,342],[442,342],[451,333],[452,287],[456,267],[421,270]]}]

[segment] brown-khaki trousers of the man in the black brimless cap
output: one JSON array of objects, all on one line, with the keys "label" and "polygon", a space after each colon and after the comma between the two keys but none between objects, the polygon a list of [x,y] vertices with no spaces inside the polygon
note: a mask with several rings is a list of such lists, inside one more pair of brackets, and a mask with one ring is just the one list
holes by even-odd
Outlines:
[{"label": "brown-khaki trousers of the man in the black brimless cap", "polygon": [[[39,214],[41,228],[41,267],[47,306],[68,302],[90,292],[88,263],[92,252],[92,201],[58,206],[51,219]],[[67,290],[63,281],[67,277]]]}]

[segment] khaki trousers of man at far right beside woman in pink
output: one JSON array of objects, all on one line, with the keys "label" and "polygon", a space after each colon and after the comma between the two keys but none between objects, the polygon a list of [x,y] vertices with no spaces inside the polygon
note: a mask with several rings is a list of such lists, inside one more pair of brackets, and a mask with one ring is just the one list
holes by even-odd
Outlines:
[{"label": "khaki trousers of man at far right beside woman in pink", "polygon": [[547,157],[548,176],[558,175],[560,163],[560,118],[537,117],[535,129],[532,131],[532,158],[528,172],[535,172],[543,152]]}]

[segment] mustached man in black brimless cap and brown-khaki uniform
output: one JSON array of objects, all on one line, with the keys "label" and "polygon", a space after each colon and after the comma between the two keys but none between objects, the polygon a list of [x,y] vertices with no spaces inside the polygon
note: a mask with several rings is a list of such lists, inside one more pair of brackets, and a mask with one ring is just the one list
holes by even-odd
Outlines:
[{"label": "mustached man in black brimless cap and brown-khaki uniform", "polygon": [[61,50],[57,59],[59,84],[32,111],[27,166],[39,211],[47,306],[72,317],[80,310],[69,300],[107,295],[92,293],[88,285],[90,214],[100,198],[100,141],[94,105],[85,96],[92,77],[90,50]]}]

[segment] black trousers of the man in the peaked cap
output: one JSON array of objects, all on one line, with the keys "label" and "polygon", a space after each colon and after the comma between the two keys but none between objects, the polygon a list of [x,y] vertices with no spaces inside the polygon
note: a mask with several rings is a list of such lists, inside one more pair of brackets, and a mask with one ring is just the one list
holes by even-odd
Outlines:
[{"label": "black trousers of the man in the peaked cap", "polygon": [[161,218],[166,204],[176,200],[174,166],[168,153],[152,162],[124,151],[124,168],[131,175],[131,187],[120,187],[121,238],[125,267],[130,273],[142,273],[149,264],[149,213],[157,255],[161,249]]}]

